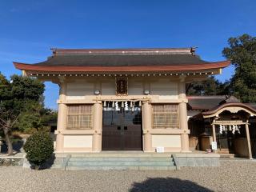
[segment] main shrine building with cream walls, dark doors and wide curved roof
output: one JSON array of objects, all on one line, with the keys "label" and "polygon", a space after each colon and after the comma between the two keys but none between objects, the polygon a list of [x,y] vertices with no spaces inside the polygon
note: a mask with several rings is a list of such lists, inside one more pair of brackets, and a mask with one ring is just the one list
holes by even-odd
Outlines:
[{"label": "main shrine building with cream walls, dark doors and wide curved roof", "polygon": [[[229,65],[206,62],[194,48],[52,49],[44,62],[14,62],[23,75],[59,86],[56,153],[190,152],[186,83]],[[227,123],[216,111],[202,114],[214,129]]]}]

